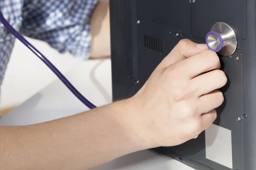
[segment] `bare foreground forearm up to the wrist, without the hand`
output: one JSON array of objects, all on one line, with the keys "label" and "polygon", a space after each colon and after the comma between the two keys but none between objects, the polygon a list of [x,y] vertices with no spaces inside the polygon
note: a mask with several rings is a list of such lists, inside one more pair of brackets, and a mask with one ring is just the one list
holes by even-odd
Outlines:
[{"label": "bare foreground forearm up to the wrist, without the hand", "polygon": [[51,122],[0,127],[0,169],[84,170],[146,149],[129,106],[124,100]]}]

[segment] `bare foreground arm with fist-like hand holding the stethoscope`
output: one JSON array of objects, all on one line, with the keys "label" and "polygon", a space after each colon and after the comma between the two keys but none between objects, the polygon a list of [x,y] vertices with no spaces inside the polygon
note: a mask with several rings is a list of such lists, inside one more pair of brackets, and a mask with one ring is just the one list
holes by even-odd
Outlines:
[{"label": "bare foreground arm with fist-like hand holding the stethoscope", "polygon": [[[215,53],[181,41],[130,99],[39,125],[0,127],[1,167],[84,170],[137,150],[196,138],[223,102],[215,89],[226,78],[218,68]],[[215,71],[195,76],[207,70]]]}]

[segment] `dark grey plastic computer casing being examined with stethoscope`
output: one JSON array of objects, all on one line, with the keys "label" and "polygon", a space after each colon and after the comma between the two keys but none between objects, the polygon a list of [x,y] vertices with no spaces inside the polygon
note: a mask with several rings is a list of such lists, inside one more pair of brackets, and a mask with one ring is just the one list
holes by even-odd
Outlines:
[{"label": "dark grey plastic computer casing being examined with stethoscope", "polygon": [[[233,170],[256,170],[255,3],[110,0],[113,101],[136,94],[179,40],[205,43],[205,36],[215,23],[227,23],[236,31],[238,49],[230,57],[220,56],[228,83],[221,89],[225,101],[217,108],[218,119],[214,124],[232,132]],[[154,150],[197,170],[230,170],[206,159],[204,132],[182,145]]]}]

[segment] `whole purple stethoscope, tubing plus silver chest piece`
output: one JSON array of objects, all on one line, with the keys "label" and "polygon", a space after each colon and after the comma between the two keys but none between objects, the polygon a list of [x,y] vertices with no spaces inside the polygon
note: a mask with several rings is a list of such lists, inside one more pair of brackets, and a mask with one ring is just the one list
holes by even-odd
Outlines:
[{"label": "whole purple stethoscope, tubing plus silver chest piece", "polygon": [[[88,108],[96,108],[91,102],[89,102],[84,96],[82,96],[79,91],[61,74],[60,71],[41,54],[38,49],[31,45],[21,34],[19,34],[3,17],[0,12],[0,22],[10,31],[17,39],[19,39],[26,47],[28,47],[35,55],[37,55],[56,75],[64,85]],[[223,56],[230,56],[236,51],[237,47],[237,37],[234,29],[227,23],[215,23],[212,26],[211,31],[206,36],[206,44],[210,50],[220,53]]]}]

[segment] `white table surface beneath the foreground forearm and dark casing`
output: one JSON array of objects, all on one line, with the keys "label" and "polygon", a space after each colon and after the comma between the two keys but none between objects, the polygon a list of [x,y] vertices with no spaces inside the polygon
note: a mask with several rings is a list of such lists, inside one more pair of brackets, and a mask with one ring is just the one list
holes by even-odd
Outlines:
[{"label": "white table surface beneath the foreground forearm and dark casing", "polygon": [[[111,61],[89,60],[65,74],[68,80],[96,106],[112,101]],[[30,125],[87,111],[63,84],[56,80],[0,119],[0,125]],[[91,170],[194,170],[151,150],[131,153]]]}]

